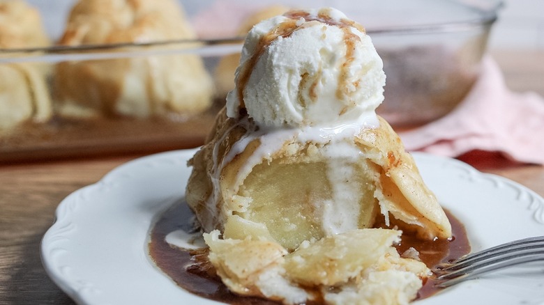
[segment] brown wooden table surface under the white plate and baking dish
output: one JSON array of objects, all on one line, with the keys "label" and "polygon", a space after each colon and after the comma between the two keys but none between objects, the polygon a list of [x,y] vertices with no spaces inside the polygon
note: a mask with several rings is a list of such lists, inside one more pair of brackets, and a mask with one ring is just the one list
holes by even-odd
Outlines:
[{"label": "brown wooden table surface under the white plate and baking dish", "polygon": [[[508,86],[544,96],[544,52],[494,52],[493,56]],[[136,157],[139,155],[0,166],[0,304],[73,304],[45,273],[40,240],[63,198]],[[544,196],[543,166],[512,164],[494,155],[463,159]]]}]

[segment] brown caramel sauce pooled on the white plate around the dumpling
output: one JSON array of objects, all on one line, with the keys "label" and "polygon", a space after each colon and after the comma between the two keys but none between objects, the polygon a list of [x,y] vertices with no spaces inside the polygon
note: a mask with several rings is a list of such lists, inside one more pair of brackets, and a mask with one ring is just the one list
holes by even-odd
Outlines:
[{"label": "brown caramel sauce pooled on the white plate around the dumpling", "polygon": [[[230,292],[221,282],[213,265],[209,263],[207,249],[180,249],[165,241],[166,235],[174,230],[188,230],[187,224],[183,224],[183,219],[187,218],[183,215],[186,215],[187,211],[185,201],[180,201],[167,210],[151,229],[149,254],[156,265],[178,286],[206,299],[239,305],[278,304],[278,302],[259,297],[241,297]],[[411,235],[402,235],[402,243],[397,246],[398,252],[403,253],[409,247],[414,247],[419,251],[423,263],[430,268],[469,253],[469,240],[464,226],[451,212],[446,210],[446,214],[453,230],[451,240],[418,240]],[[437,279],[426,279],[417,298],[424,299],[439,292],[441,288],[437,288],[437,283]],[[307,304],[322,304],[322,302]]]}]

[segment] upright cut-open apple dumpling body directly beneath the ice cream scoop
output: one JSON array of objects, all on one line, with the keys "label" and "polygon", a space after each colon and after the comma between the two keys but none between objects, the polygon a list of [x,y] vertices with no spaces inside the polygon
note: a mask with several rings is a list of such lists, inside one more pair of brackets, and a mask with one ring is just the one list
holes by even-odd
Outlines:
[{"label": "upright cut-open apple dumpling body directly beneath the ice cream scoop", "polygon": [[[370,228],[381,214],[386,224],[424,238],[451,236],[444,210],[385,120],[340,143],[292,136],[262,155],[273,139],[248,139],[246,128],[223,111],[213,136],[190,161],[187,201],[204,231],[223,231],[241,218],[248,221],[241,226],[264,224],[264,235],[296,249],[304,240]],[[342,146],[343,155],[328,155],[333,145]],[[349,189],[358,190],[356,197],[342,198],[353,195]],[[342,210],[346,205],[352,206]]]}]

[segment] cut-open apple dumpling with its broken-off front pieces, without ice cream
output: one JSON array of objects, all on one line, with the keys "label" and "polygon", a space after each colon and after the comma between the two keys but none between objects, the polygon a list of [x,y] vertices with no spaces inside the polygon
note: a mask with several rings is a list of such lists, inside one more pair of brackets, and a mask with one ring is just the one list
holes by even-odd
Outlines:
[{"label": "cut-open apple dumpling with its broken-off front pieces, without ice cream", "polygon": [[186,201],[223,283],[284,304],[414,299],[430,271],[393,244],[451,237],[451,224],[391,126],[379,118],[340,141],[270,134],[224,109],[189,162]]}]

